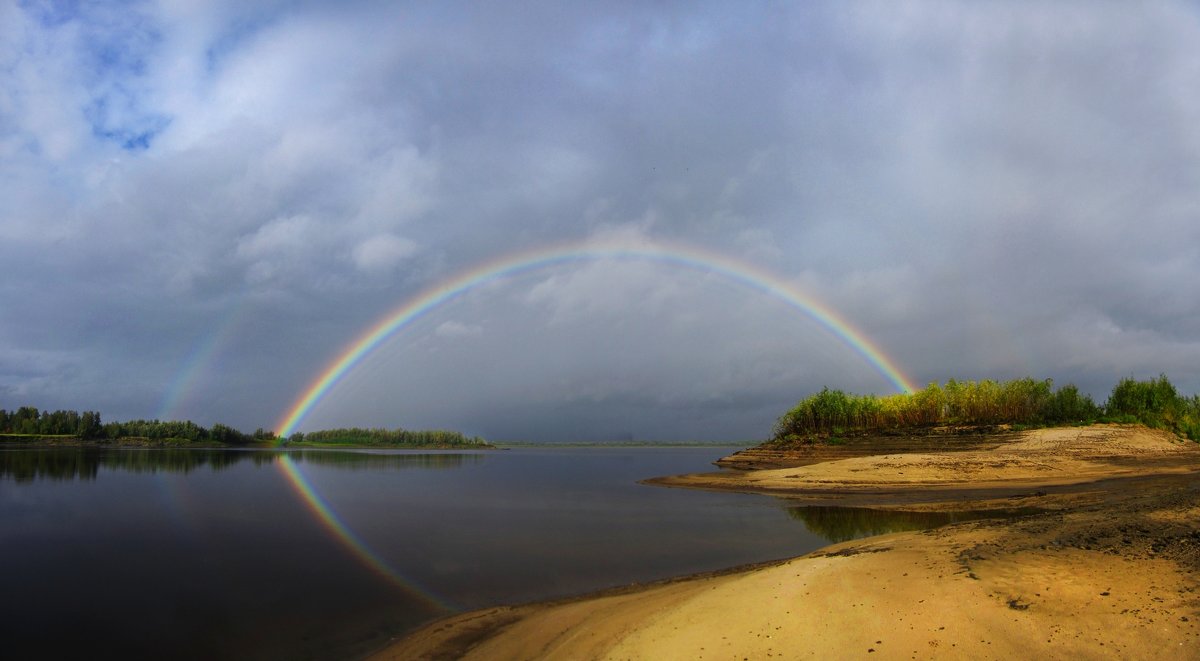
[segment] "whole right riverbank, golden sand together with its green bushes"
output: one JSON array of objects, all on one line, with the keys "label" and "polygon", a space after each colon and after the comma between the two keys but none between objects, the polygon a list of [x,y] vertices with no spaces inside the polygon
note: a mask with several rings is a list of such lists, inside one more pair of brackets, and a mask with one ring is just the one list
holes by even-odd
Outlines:
[{"label": "whole right riverbank, golden sand together with its green bushes", "polygon": [[374,659],[1200,656],[1200,398],[1020,379],[823,390],[736,470],[648,482],[968,513],[713,575],[426,626]]}]

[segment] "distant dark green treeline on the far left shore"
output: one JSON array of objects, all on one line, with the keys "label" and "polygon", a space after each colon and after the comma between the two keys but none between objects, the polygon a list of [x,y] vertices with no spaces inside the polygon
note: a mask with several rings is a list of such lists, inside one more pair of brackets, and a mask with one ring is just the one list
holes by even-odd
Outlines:
[{"label": "distant dark green treeline on the far left shore", "polygon": [[118,445],[144,447],[492,447],[479,437],[443,429],[325,429],[280,439],[262,428],[245,433],[227,425],[131,420],[101,422],[91,410],[0,409],[0,445]]}]

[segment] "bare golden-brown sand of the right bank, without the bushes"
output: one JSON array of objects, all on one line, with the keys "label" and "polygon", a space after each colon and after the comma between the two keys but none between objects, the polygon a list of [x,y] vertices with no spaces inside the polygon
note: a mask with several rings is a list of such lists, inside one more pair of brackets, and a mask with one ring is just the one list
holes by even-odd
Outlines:
[{"label": "bare golden-brown sand of the right bank, without the bushes", "polygon": [[785,563],[434,623],[373,659],[1198,659],[1200,450],[1140,427],[660,483],[1036,506]]}]

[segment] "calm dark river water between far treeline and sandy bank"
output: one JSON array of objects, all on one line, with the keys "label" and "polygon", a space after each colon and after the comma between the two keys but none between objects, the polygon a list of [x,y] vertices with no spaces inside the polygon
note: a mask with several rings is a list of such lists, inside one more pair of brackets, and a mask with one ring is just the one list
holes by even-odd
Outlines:
[{"label": "calm dark river water between far treeline and sandy bank", "polygon": [[0,451],[2,656],[353,657],[450,611],[828,543],[772,498],[637,483],[730,451],[292,452],[404,584],[322,523],[275,452]]}]

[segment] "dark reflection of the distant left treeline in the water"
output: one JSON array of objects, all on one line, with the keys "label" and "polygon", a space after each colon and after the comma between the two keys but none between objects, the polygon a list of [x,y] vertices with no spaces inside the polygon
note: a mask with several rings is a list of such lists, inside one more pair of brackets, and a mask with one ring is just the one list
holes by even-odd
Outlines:
[{"label": "dark reflection of the distant left treeline in the water", "polygon": [[0,479],[95,480],[101,468],[126,473],[191,473],[199,468],[222,470],[248,462],[274,464],[287,452],[293,461],[361,469],[460,468],[482,459],[475,453],[380,452],[344,450],[208,450],[208,449],[37,449],[0,451]]}]

